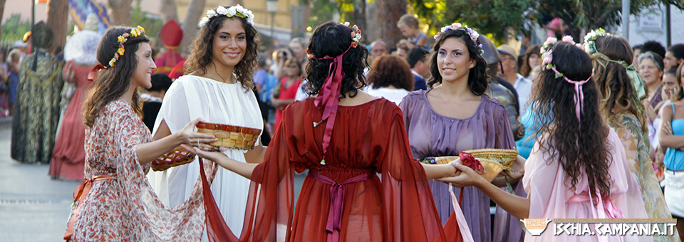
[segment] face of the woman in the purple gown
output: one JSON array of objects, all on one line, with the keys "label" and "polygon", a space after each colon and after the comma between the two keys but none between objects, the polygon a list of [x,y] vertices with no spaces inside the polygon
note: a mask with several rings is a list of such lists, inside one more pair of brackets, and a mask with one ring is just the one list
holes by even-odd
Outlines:
[{"label": "face of the woman in the purple gown", "polygon": [[447,38],[437,52],[437,68],[442,75],[442,83],[468,80],[470,68],[475,61],[470,58],[465,43],[456,37]]}]

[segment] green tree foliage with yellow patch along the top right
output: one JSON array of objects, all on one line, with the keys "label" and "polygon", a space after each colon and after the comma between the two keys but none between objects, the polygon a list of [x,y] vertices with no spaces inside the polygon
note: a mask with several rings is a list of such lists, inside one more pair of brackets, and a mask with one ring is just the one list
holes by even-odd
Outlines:
[{"label": "green tree foliage with yellow patch along the top right", "polygon": [[[620,24],[621,0],[408,0],[428,33],[453,22],[466,23],[482,33],[491,33],[494,41],[519,35],[532,23],[544,26],[559,17],[579,38],[581,29],[590,30]],[[684,0],[631,0],[631,14],[655,4],[672,4],[684,9]],[[576,40],[577,41],[577,40]]]}]

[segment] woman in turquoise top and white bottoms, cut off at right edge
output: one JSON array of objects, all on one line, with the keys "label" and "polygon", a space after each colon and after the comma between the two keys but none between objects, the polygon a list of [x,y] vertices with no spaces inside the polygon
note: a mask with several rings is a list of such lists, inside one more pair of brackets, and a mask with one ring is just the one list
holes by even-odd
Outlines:
[{"label": "woman in turquoise top and white bottoms, cut off at right edge", "polygon": [[[677,69],[679,88],[671,90],[671,109],[663,107],[660,110],[659,140],[665,153],[665,202],[670,207],[672,217],[677,219],[677,230],[680,238],[684,238],[684,88],[682,85],[682,66]],[[670,121],[670,122],[668,122]]]}]

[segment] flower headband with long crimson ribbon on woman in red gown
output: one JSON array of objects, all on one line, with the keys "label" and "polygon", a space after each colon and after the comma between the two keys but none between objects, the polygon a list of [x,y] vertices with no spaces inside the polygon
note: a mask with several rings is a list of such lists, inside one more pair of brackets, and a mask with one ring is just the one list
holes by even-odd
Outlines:
[{"label": "flower headband with long crimson ribbon on woman in red gown", "polygon": [[[358,29],[356,25],[349,27],[349,22],[341,23],[347,28],[351,28],[351,44],[347,47],[347,50],[338,56],[324,56],[322,58],[316,58],[309,48],[306,48],[306,55],[312,60],[333,60],[330,63],[328,69],[328,77],[323,82],[320,93],[318,97],[314,100],[314,105],[323,109],[323,114],[321,114],[321,121],[314,121],[314,127],[320,125],[323,121],[327,120],[326,130],[323,132],[323,159],[321,159],[321,165],[326,164],[326,152],[328,152],[328,147],[330,147],[330,140],[333,135],[333,127],[335,126],[335,117],[337,116],[337,107],[340,102],[340,89],[342,87],[342,79],[344,78],[344,72],[342,71],[342,58],[344,54],[347,53],[351,48],[356,48],[358,42],[361,41],[361,30]],[[314,117],[316,120],[316,117]]]}]

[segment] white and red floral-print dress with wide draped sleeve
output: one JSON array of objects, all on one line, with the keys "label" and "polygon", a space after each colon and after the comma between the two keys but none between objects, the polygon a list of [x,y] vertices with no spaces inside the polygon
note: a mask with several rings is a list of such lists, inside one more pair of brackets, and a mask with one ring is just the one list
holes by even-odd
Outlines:
[{"label": "white and red floral-print dress with wide draped sleeve", "polygon": [[[95,179],[89,192],[81,190],[84,195],[68,222],[73,226],[70,241],[199,241],[204,230],[202,185],[197,182],[182,205],[162,205],[145,178],[149,163],[141,166],[135,152],[138,144],[151,141],[150,131],[122,100],[110,102],[93,127],[86,128],[86,178],[113,179]],[[204,167],[212,181],[216,165],[207,162]]]}]

